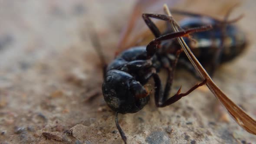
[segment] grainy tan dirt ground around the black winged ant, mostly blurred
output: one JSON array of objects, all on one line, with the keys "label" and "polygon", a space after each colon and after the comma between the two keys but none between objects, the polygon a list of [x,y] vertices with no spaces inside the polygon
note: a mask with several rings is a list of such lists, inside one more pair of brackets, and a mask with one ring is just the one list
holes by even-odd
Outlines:
[{"label": "grainy tan dirt ground around the black winged ant, mostly blurred", "polygon": [[[102,97],[100,61],[87,29],[95,27],[111,61],[134,2],[0,0],[1,144],[122,143],[114,112]],[[177,7],[222,18],[234,3],[190,0]],[[249,46],[220,66],[213,78],[253,118],[255,7],[255,0],[244,0],[232,13],[245,14],[237,25],[246,32]],[[185,91],[197,82],[190,73],[177,71],[173,93],[180,85]],[[119,122],[128,143],[134,144],[256,143],[256,136],[240,128],[207,87],[166,108],[151,101],[136,114],[120,115]]]}]

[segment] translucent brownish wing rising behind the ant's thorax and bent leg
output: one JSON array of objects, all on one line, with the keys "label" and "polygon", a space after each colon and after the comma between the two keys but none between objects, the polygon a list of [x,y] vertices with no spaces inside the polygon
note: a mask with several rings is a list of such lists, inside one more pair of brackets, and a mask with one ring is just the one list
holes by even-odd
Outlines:
[{"label": "translucent brownish wing rising behind the ant's thorax and bent leg", "polygon": [[[171,7],[182,1],[183,0],[138,0],[137,3],[135,3],[127,25],[122,29],[116,55],[125,49],[138,45],[138,43],[142,44],[141,41],[144,39],[152,40],[154,38],[141,17],[142,13],[163,13],[164,3],[167,3],[167,5]],[[164,22],[158,21],[157,26],[163,29]],[[146,45],[147,43],[144,44]]]}]

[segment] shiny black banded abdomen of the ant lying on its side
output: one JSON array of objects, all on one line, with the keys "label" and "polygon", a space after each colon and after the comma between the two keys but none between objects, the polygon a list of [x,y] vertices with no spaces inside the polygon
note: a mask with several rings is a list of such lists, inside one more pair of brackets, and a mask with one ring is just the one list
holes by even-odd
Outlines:
[{"label": "shiny black banded abdomen of the ant lying on its side", "polygon": [[[245,34],[236,26],[227,24],[223,33],[223,26],[217,24],[216,21],[203,18],[187,18],[180,22],[183,29],[193,28],[211,24],[213,29],[193,33],[192,38],[197,43],[192,42],[188,38],[184,38],[194,55],[201,63],[208,63],[215,56],[215,53],[221,47],[223,41],[223,51],[220,53],[220,63],[229,61],[239,55],[246,47]],[[223,35],[224,34],[224,35]],[[224,36],[224,37],[223,37]],[[224,38],[224,39],[223,39]],[[187,58],[185,54],[181,58]]]}]

